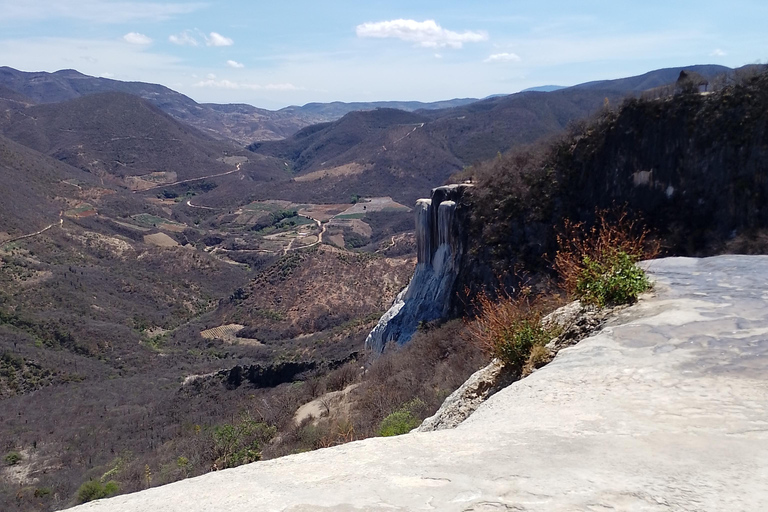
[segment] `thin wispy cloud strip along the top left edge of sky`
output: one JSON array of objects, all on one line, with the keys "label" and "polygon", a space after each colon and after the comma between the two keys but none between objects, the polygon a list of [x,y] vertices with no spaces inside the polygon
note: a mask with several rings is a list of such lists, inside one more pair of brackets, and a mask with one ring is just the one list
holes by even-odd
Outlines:
[{"label": "thin wispy cloud strip along the top left edge of sky", "polygon": [[136,2],[107,0],[0,0],[0,21],[80,19],[96,23],[164,21],[204,7],[201,2]]}]

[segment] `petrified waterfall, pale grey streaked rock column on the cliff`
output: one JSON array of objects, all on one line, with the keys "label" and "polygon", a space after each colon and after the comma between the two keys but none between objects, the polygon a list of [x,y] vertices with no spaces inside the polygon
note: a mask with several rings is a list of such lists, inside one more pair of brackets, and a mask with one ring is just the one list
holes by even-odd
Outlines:
[{"label": "petrified waterfall, pale grey streaked rock column on the cliff", "polygon": [[461,198],[471,185],[446,185],[416,202],[418,263],[408,286],[365,340],[380,353],[389,342],[406,343],[421,322],[447,315],[464,255]]}]

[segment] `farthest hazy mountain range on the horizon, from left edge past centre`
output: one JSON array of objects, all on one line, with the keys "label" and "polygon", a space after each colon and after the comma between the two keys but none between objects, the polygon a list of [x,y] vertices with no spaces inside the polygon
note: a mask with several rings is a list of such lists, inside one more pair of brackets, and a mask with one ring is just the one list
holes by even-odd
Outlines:
[{"label": "farthest hazy mountain range on the horizon, from left edge past centre", "polygon": [[[259,140],[280,140],[301,128],[316,123],[335,121],[355,110],[379,107],[400,110],[440,109],[466,105],[474,99],[455,99],[434,103],[418,101],[372,103],[309,103],[272,111],[245,104],[219,105],[197,103],[167,87],[143,82],[121,82],[84,75],[72,69],[46,72],[24,72],[0,67],[0,102],[4,99],[29,103],[58,103],[103,92],[123,92],[139,96],[174,118],[191,124],[216,138],[230,138],[242,144]],[[11,98],[16,95],[17,98]]]}]

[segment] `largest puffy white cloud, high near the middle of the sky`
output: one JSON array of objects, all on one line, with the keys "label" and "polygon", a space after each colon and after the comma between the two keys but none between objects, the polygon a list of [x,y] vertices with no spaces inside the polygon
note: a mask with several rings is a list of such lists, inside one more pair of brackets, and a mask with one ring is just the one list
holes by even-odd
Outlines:
[{"label": "largest puffy white cloud, high near the middle of the sky", "polygon": [[435,20],[391,20],[363,23],[355,29],[357,37],[393,38],[416,43],[424,48],[461,48],[464,43],[487,41],[485,32],[454,32],[438,25]]}]

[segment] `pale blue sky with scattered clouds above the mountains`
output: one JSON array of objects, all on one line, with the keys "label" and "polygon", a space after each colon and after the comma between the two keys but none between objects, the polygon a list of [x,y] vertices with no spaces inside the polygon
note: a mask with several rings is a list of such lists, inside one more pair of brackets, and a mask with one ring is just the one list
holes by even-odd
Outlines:
[{"label": "pale blue sky with scattered clouds above the mountains", "polygon": [[768,61],[765,0],[0,0],[0,65],[199,102],[437,101]]}]

